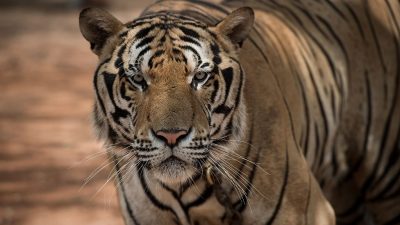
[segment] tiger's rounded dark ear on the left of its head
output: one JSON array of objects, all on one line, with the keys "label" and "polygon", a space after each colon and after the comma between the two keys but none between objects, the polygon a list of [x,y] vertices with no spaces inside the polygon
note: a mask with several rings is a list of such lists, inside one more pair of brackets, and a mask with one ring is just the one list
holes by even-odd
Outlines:
[{"label": "tiger's rounded dark ear on the left of its head", "polygon": [[106,41],[118,33],[123,24],[108,12],[98,8],[87,8],[79,14],[79,28],[90,48],[100,55]]}]

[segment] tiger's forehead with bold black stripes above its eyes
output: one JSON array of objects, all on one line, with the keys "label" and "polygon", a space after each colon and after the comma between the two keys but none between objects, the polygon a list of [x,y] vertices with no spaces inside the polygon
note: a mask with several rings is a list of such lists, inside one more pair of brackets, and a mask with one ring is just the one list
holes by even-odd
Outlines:
[{"label": "tiger's forehead with bold black stripes above its eyes", "polygon": [[201,22],[165,13],[138,19],[127,29],[122,34],[127,68],[147,72],[182,63],[187,73],[212,69],[212,34]]}]

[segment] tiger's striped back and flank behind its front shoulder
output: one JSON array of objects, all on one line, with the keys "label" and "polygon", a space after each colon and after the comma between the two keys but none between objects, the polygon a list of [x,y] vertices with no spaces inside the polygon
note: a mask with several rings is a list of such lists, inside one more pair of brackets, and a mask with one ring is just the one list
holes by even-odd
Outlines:
[{"label": "tiger's striped back and flank behind its front shoulder", "polygon": [[[253,43],[271,62],[296,139],[338,224],[400,223],[399,3],[249,5],[266,12]],[[268,96],[252,104],[262,101]]]}]

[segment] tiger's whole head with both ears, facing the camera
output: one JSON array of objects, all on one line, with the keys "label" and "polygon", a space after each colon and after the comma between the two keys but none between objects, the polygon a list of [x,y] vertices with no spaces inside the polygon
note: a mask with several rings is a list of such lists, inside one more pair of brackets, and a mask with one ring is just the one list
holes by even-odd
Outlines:
[{"label": "tiger's whole head with both ears, facing the camera", "polygon": [[212,26],[170,12],[123,24],[83,10],[80,29],[100,61],[95,124],[111,153],[180,183],[234,151],[246,127],[238,51],[253,21],[250,8]]}]

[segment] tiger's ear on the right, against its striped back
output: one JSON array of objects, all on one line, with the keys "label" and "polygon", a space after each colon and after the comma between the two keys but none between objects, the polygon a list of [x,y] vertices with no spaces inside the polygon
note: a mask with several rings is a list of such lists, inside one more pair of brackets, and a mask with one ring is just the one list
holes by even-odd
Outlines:
[{"label": "tiger's ear on the right, against its striped back", "polygon": [[217,24],[216,29],[220,34],[227,36],[233,43],[241,46],[253,28],[253,23],[253,9],[243,7],[231,12]]}]

